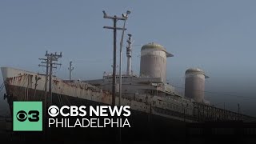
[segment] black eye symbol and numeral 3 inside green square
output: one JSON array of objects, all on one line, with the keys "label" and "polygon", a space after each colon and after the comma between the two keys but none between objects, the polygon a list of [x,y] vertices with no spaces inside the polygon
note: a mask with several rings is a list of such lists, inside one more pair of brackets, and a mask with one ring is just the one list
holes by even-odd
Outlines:
[{"label": "black eye symbol and numeral 3 inside green square", "polygon": [[16,114],[16,118],[19,122],[25,122],[28,119],[30,122],[38,122],[39,121],[39,111],[38,110],[30,110],[28,114],[26,111],[20,110]]}]

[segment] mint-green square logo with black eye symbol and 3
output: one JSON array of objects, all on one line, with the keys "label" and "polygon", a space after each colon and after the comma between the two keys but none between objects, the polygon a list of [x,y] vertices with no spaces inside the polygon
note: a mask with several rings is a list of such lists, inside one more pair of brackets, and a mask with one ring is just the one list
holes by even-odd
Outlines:
[{"label": "mint-green square logo with black eye symbol and 3", "polygon": [[14,102],[14,131],[42,131],[42,102]]}]

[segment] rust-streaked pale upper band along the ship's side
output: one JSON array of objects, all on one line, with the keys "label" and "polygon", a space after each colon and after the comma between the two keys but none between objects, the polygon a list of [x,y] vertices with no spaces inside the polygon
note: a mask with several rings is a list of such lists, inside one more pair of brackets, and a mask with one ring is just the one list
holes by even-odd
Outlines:
[{"label": "rust-streaked pale upper band along the ship's side", "polygon": [[[3,75],[3,78],[6,78],[4,80],[6,93],[8,94],[8,102],[14,100],[33,101],[42,100],[42,98],[44,98],[44,76],[11,68],[2,71],[5,71],[2,74],[6,74]],[[38,80],[38,86],[34,89],[36,76],[41,77],[41,79]],[[59,97],[70,96],[74,98],[82,98],[94,102],[101,102],[106,105],[112,103],[112,95],[109,92],[101,90],[96,86],[91,86],[86,82],[66,82],[60,78],[53,78],[52,83],[52,92],[58,94]],[[36,97],[34,97],[34,92],[36,92]],[[216,110],[209,107],[207,107],[208,112],[206,113],[206,111],[204,111],[206,110],[206,107],[204,107],[205,105],[195,106],[191,99],[186,98],[160,97],[150,94],[137,94],[134,95],[134,97],[134,99],[122,98],[121,104],[130,106],[132,110],[156,114],[166,118],[174,118],[182,121],[186,118],[186,122],[191,121],[191,117],[194,118],[194,121],[199,121],[199,118],[205,119],[209,117],[209,114],[211,114],[211,116],[213,116],[213,114],[216,115],[216,118],[225,119],[233,119],[234,115],[238,115],[234,112],[231,113],[226,110]],[[118,98],[116,98],[116,103],[118,103]],[[198,114],[199,117],[197,117]],[[222,114],[226,114],[225,117],[222,117]],[[245,120],[246,118],[255,119],[247,117],[246,115],[242,115],[241,118]]]}]

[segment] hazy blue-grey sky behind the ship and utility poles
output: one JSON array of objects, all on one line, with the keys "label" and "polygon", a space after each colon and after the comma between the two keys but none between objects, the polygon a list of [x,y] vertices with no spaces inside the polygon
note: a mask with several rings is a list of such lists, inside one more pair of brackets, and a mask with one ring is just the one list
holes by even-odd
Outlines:
[{"label": "hazy blue-grey sky behind the ship and utility poles", "polygon": [[[102,78],[104,71],[111,72],[113,57],[113,33],[102,28],[112,26],[113,22],[103,18],[102,10],[118,16],[131,10],[126,34],[133,34],[132,68],[136,74],[141,46],[157,42],[174,54],[167,59],[166,75],[170,84],[182,90],[185,71],[199,67],[210,76],[206,79],[206,91],[215,92],[206,93],[206,99],[219,107],[225,102],[230,110],[237,110],[240,103],[242,111],[253,114],[255,4],[252,0],[2,0],[0,66],[43,73],[44,69],[38,67],[38,58],[43,58],[46,50],[62,51],[59,61],[62,66],[55,70],[58,77],[68,78],[67,67],[72,60],[75,79]],[[122,26],[122,22],[118,22],[118,26]],[[120,36],[118,32],[117,46]],[[125,71],[125,53],[123,58]],[[2,75],[0,78],[2,84]],[[6,102],[0,104],[6,107]]]}]

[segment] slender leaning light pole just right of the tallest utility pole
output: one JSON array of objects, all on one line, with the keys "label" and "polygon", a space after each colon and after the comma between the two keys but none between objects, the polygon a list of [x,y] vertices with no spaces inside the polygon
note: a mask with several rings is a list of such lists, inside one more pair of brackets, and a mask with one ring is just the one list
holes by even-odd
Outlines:
[{"label": "slender leaning light pole just right of the tallest utility pole", "polygon": [[126,14],[122,14],[122,18],[125,18],[122,27],[122,37],[120,41],[120,63],[119,63],[119,106],[121,106],[121,98],[122,98],[122,42],[123,42],[123,35],[125,33],[126,27],[126,19],[128,18],[128,14],[130,14],[130,10],[126,11]]}]

